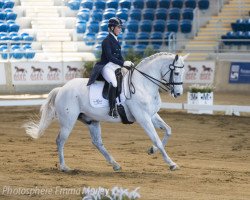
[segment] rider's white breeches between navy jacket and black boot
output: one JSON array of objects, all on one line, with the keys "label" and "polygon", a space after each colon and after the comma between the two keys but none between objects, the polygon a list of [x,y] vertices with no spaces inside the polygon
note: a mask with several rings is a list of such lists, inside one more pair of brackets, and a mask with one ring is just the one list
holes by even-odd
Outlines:
[{"label": "rider's white breeches between navy jacket and black boot", "polygon": [[107,63],[102,69],[102,76],[108,82],[112,83],[113,87],[117,87],[115,70],[121,68],[119,65],[112,62]]}]

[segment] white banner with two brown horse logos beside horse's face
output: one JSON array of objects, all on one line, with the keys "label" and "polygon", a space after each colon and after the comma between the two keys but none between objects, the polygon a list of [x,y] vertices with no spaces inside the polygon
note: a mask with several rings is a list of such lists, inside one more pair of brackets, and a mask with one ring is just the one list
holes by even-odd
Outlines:
[{"label": "white banner with two brown horse logos beside horse's face", "polygon": [[213,84],[215,62],[185,62],[184,83]]}]

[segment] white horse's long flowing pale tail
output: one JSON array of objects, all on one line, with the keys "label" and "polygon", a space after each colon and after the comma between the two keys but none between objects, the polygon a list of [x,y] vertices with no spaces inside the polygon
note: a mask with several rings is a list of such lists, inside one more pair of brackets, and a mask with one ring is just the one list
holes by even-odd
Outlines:
[{"label": "white horse's long flowing pale tail", "polygon": [[52,120],[56,117],[55,98],[60,90],[60,87],[54,88],[48,95],[45,103],[41,106],[40,121],[30,121],[24,124],[26,133],[34,139],[41,137],[46,128],[51,124]]}]

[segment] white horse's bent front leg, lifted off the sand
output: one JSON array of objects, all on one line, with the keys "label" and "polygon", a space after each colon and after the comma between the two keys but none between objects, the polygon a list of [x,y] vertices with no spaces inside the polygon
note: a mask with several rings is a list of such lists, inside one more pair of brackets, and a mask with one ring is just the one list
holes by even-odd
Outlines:
[{"label": "white horse's bent front leg, lifted off the sand", "polygon": [[[165,131],[165,134],[163,136],[162,139],[162,145],[165,147],[168,141],[168,138],[171,136],[171,127],[168,126],[163,119],[158,115],[158,113],[156,113],[153,117],[152,117],[152,122],[154,124],[155,128],[159,128],[161,130]],[[158,150],[158,148],[156,146],[152,146],[148,149],[148,154],[154,154],[156,151]]]}]

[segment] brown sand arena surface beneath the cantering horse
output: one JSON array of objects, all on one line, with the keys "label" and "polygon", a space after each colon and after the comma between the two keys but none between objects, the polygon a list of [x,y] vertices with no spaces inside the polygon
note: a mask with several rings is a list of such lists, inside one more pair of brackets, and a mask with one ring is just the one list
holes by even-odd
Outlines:
[{"label": "brown sand arena surface beneath the cantering horse", "polygon": [[[38,107],[0,108],[0,199],[75,200],[81,199],[78,190],[87,186],[140,187],[143,200],[250,198],[250,117],[161,111],[172,127],[166,150],[181,167],[175,172],[159,152],[147,155],[151,141],[137,124],[102,123],[104,145],[122,167],[114,172],[92,145],[87,128],[77,122],[65,145],[65,161],[75,170],[63,173],[58,170],[55,144],[58,123],[53,122],[38,140],[21,128],[38,111]],[[44,189],[47,194],[10,194],[19,188]],[[67,195],[70,191],[65,189],[75,191]]]}]

